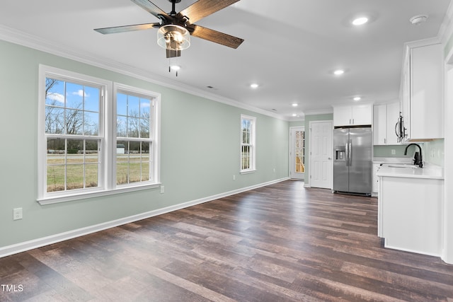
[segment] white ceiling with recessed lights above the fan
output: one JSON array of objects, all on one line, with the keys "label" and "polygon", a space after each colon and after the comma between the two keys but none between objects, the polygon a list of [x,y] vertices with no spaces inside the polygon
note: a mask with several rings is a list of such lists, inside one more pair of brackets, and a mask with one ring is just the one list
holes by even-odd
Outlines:
[{"label": "white ceiling with recessed lights above the fan", "polygon": [[[171,11],[168,0],[151,1]],[[182,0],[176,11],[193,2]],[[182,67],[177,77],[168,72],[156,29],[115,35],[93,30],[159,22],[130,0],[1,0],[0,29],[186,91],[301,120],[304,114],[352,103],[356,95],[374,103],[397,100],[403,43],[435,37],[449,4],[450,0],[241,0],[196,24],[241,37],[242,45],[234,50],[192,37],[190,48],[173,59]],[[354,16],[363,14],[371,22],[350,25]],[[418,14],[428,15],[428,21],[411,25],[409,18]],[[337,68],[345,74],[333,76]],[[252,82],[260,87],[249,88]],[[292,103],[299,106],[293,108]]]}]

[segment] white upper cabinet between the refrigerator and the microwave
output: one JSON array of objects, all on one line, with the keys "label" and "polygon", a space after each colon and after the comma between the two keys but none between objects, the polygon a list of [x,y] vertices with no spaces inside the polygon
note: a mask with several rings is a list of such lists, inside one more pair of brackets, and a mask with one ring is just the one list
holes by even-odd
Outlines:
[{"label": "white upper cabinet between the refrigerator and the microwave", "polygon": [[395,126],[399,116],[399,103],[374,105],[373,144],[396,145]]}]

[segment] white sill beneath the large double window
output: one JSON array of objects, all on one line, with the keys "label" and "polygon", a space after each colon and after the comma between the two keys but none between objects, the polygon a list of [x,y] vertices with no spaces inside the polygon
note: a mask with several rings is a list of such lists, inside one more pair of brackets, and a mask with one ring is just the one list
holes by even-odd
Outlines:
[{"label": "white sill beneath the large double window", "polygon": [[114,194],[122,194],[122,193],[127,193],[127,192],[136,192],[140,190],[148,190],[148,189],[154,189],[156,187],[160,187],[160,183],[153,183],[149,185],[139,185],[139,186],[133,186],[133,187],[119,187],[114,190],[103,190],[103,191],[92,191],[92,192],[84,192],[84,193],[79,193],[79,194],[71,194],[71,195],[65,195],[65,196],[58,196],[58,197],[45,197],[45,198],[40,198],[37,199],[36,201],[44,206],[46,204],[57,204],[60,202],[71,202],[74,200],[81,200],[81,199],[88,199],[88,198],[93,198],[93,197],[103,197],[103,196],[109,196],[109,195],[114,195]]}]

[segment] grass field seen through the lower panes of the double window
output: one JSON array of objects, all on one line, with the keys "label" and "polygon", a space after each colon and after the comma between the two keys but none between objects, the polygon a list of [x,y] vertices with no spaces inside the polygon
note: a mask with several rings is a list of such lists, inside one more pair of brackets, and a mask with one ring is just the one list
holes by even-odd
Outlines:
[{"label": "grass field seen through the lower panes of the double window", "polygon": [[[149,154],[117,154],[117,185],[149,180]],[[98,154],[47,154],[47,192],[97,187]],[[66,177],[67,187],[64,187]]]}]

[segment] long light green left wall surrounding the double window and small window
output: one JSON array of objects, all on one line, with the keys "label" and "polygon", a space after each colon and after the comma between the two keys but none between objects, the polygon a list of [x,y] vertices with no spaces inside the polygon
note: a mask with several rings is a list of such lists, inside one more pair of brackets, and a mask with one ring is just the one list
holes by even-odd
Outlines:
[{"label": "long light green left wall surrounding the double window and small window", "polygon": [[[289,175],[287,121],[9,42],[0,41],[0,54],[0,248]],[[46,206],[36,202],[39,64],[161,93],[164,194],[152,189]],[[257,171],[246,175],[239,174],[241,114],[257,118]],[[22,220],[12,219],[16,207],[23,208]]]}]

